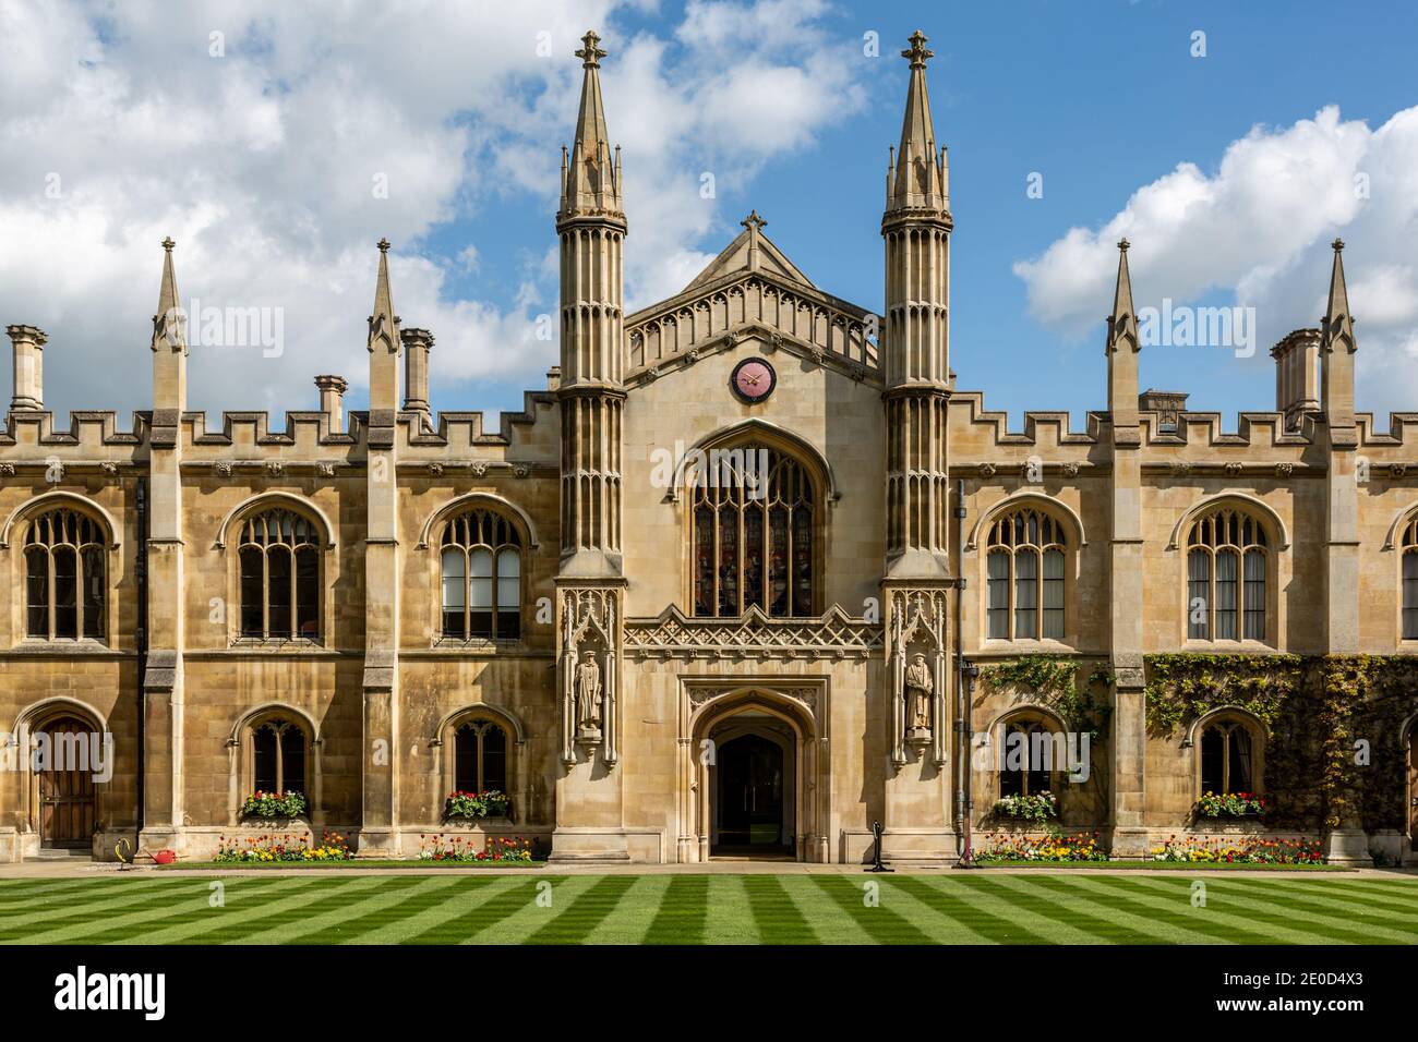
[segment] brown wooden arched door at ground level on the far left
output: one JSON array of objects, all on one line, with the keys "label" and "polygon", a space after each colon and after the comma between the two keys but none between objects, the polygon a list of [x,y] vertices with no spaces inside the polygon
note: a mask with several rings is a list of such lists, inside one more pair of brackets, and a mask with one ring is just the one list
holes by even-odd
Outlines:
[{"label": "brown wooden arched door at ground level on the far left", "polygon": [[94,844],[102,734],[77,716],[62,715],[34,730],[34,778],[40,846],[88,849]]}]

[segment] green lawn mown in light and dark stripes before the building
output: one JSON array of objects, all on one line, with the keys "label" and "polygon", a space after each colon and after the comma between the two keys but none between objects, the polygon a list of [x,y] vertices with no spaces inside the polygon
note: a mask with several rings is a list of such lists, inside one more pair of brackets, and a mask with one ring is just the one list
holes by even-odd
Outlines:
[{"label": "green lawn mown in light and dark stripes before the building", "polygon": [[[1193,903],[1198,883],[1204,907]],[[1415,944],[1418,879],[1198,880],[1141,872],[0,879],[0,943]]]}]

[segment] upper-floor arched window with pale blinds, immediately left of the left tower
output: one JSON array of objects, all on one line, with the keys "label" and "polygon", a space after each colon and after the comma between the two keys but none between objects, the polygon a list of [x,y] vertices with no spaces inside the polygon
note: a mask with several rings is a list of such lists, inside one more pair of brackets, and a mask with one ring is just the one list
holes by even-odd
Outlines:
[{"label": "upper-floor arched window with pale blinds, immediately left of the left tower", "polygon": [[442,635],[515,641],[522,634],[522,534],[492,510],[444,527],[440,554]]}]

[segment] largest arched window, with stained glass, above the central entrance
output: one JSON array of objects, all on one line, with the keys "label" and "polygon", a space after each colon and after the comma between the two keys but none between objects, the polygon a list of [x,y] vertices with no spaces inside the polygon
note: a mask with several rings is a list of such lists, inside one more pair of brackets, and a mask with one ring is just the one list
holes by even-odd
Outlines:
[{"label": "largest arched window, with stained glass, above the central entrance", "polygon": [[695,615],[811,615],[814,510],[807,468],[763,445],[709,449],[691,475]]}]

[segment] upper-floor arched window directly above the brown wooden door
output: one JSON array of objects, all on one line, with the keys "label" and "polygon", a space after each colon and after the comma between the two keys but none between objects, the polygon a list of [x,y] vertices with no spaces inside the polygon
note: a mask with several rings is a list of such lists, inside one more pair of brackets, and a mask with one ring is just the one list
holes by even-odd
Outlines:
[{"label": "upper-floor arched window directly above the brown wooden door", "polygon": [[26,533],[26,632],[45,641],[104,639],[108,540],[85,513],[48,510]]}]

